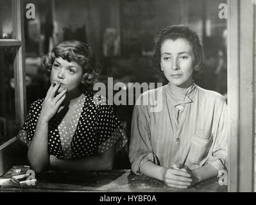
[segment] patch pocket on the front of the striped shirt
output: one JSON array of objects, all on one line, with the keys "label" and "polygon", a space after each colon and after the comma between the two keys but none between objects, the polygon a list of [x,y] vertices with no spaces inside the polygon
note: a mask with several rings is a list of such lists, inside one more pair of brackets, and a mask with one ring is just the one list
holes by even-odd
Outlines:
[{"label": "patch pocket on the front of the striped shirt", "polygon": [[210,150],[212,138],[201,138],[198,135],[192,136],[191,149],[189,151],[189,161],[193,164],[200,165]]}]

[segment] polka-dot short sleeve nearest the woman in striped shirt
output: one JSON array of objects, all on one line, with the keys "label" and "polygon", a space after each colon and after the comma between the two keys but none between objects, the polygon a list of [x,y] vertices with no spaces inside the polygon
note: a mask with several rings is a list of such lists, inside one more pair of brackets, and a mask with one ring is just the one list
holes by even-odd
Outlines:
[{"label": "polka-dot short sleeve nearest the woman in striped shirt", "polygon": [[115,152],[119,152],[128,142],[123,125],[110,105],[99,106],[97,135],[98,154],[102,154],[114,145]]}]

